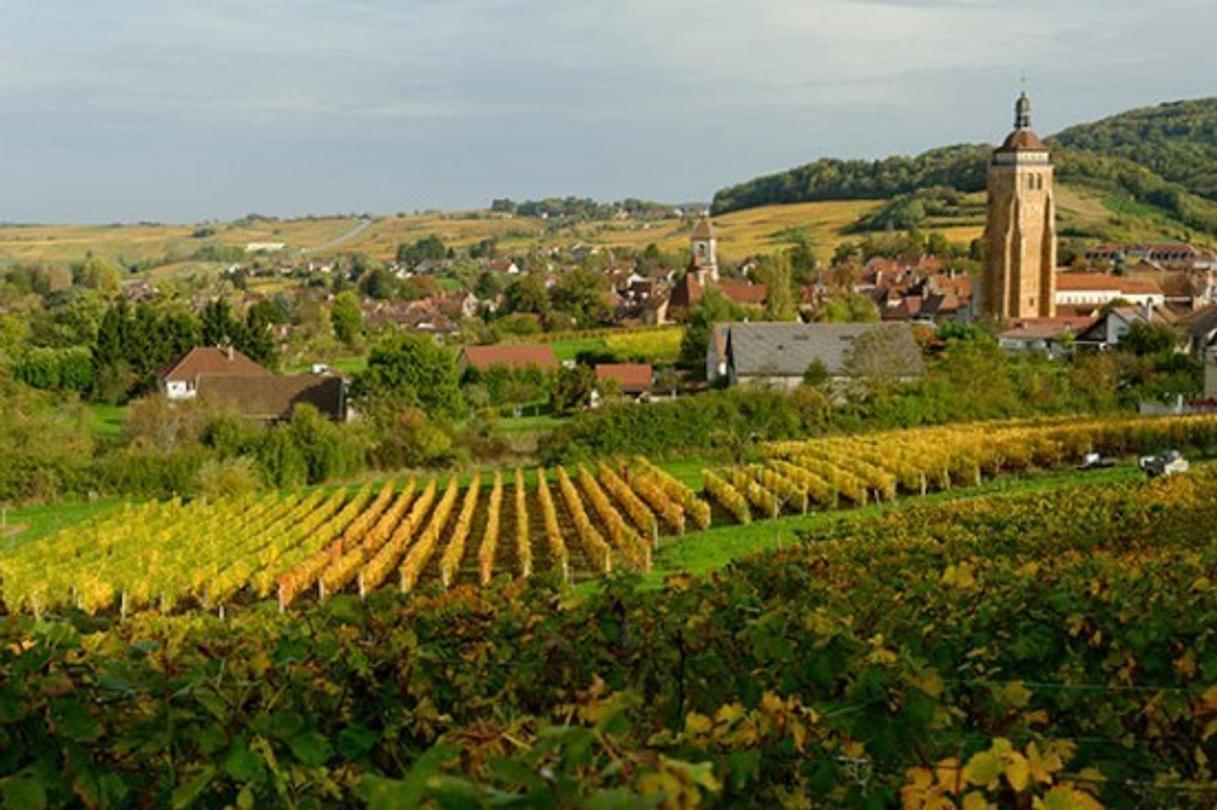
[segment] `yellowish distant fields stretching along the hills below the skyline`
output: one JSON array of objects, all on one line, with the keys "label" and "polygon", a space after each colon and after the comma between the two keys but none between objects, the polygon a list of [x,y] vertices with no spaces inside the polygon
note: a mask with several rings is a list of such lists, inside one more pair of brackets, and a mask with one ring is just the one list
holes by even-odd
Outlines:
[{"label": "yellowish distant fields stretching along the hills below the skyline", "polygon": [[[1199,246],[1211,238],[1189,234],[1166,214],[1150,206],[1133,203],[1109,190],[1058,185],[1060,227],[1103,238],[1127,241],[1189,238]],[[983,202],[983,192],[972,195]],[[858,240],[849,226],[885,204],[875,199],[843,199],[765,206],[718,216],[714,226],[723,259],[738,261],[748,255],[781,249],[796,232],[807,234],[815,251],[826,260],[843,241]],[[195,225],[0,225],[0,266],[13,263],[71,263],[92,253],[122,261],[167,260],[151,271],[158,280],[183,279],[214,272],[223,263],[195,261],[190,257],[207,243],[245,246],[248,242],[284,242],[291,249],[313,251],[318,258],[358,251],[391,260],[398,244],[425,236],[438,236],[445,244],[466,248],[495,238],[506,253],[538,248],[599,246],[643,249],[656,243],[664,251],[688,248],[688,223],[669,219],[641,221],[613,219],[559,227],[555,224],[486,210],[385,215],[359,230],[352,218],[314,220],[256,220],[242,224],[209,225],[215,234],[192,238]],[[925,231],[942,232],[955,243],[980,237],[981,216],[931,219]],[[349,235],[349,238],[343,238]]]}]

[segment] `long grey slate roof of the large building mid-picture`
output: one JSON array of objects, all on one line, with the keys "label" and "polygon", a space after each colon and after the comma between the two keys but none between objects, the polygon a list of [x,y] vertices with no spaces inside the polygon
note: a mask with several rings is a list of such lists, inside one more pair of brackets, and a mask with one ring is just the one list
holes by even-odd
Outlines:
[{"label": "long grey slate roof of the large building mid-picture", "polygon": [[819,360],[835,377],[847,373],[854,342],[874,330],[891,330],[891,373],[925,373],[921,350],[907,324],[731,324],[728,353],[740,377],[802,377]]}]

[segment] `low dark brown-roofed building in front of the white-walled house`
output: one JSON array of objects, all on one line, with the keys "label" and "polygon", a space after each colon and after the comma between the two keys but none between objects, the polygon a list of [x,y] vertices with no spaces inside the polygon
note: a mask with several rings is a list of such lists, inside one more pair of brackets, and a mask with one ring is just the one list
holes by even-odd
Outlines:
[{"label": "low dark brown-roofed building in front of the white-walled house", "polygon": [[335,422],[347,421],[347,383],[330,373],[203,375],[197,390],[200,401],[257,422],[290,418],[297,405],[312,405]]}]

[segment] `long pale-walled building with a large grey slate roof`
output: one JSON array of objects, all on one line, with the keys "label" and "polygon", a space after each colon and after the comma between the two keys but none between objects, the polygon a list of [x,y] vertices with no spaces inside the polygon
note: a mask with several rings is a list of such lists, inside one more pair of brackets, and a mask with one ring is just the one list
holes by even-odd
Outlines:
[{"label": "long pale-walled building with a large grey slate roof", "polygon": [[[823,366],[832,382],[849,379],[854,362],[874,364],[901,381],[925,375],[921,349],[905,324],[745,322],[724,328],[725,372],[731,386],[795,388],[814,364]],[[864,339],[871,337],[875,339]],[[711,344],[718,338],[712,333]],[[858,356],[856,347],[882,354]],[[707,369],[707,376],[713,373],[711,379],[719,376],[716,372],[718,369]]]}]

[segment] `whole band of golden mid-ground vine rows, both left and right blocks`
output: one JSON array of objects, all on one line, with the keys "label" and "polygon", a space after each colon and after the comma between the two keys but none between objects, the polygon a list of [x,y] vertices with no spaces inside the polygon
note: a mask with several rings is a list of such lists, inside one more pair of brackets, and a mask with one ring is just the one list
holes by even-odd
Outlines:
[{"label": "whole band of golden mid-ground vine rows, both left and right blocks", "polygon": [[[410,478],[378,488],[128,506],[0,561],[10,612],[202,608],[276,598],[281,609],[498,575],[571,583],[650,570],[666,536],[975,486],[985,478],[1217,446],[1217,417],[997,423],[787,441],[761,461],[705,469],[703,494],[643,457]],[[550,474],[553,473],[553,474]]]}]

